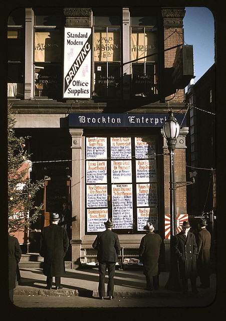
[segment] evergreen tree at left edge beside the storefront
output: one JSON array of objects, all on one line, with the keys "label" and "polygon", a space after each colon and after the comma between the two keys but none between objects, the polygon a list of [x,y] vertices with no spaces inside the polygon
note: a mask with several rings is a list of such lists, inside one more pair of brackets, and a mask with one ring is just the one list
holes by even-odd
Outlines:
[{"label": "evergreen tree at left edge beside the storefront", "polygon": [[30,224],[41,215],[40,206],[34,206],[35,195],[44,181],[32,183],[28,177],[31,161],[26,150],[27,137],[16,137],[15,116],[8,105],[8,222],[11,232],[27,231]]}]

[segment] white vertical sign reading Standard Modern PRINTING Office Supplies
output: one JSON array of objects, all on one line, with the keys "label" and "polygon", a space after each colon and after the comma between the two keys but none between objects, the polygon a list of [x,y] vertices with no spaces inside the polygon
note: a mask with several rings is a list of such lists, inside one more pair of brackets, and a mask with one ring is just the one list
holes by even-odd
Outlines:
[{"label": "white vertical sign reading Standard Modern PRINTING Office Supplies", "polygon": [[91,28],[65,28],[63,97],[91,97]]}]

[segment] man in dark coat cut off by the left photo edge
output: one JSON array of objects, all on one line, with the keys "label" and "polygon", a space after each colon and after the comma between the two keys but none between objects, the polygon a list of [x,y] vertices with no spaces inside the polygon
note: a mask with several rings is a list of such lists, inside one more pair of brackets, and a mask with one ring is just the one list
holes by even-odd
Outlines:
[{"label": "man in dark coat cut off by the left photo edge", "polygon": [[14,289],[19,281],[20,270],[18,263],[21,260],[22,250],[18,239],[9,234],[9,296],[14,303]]}]

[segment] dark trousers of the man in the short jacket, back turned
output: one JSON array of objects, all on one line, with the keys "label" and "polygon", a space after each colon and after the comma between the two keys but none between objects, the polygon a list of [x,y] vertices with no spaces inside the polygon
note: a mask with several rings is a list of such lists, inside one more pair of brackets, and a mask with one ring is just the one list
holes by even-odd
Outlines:
[{"label": "dark trousers of the man in the short jacket, back turned", "polygon": [[98,292],[99,296],[104,296],[105,294],[105,275],[108,270],[108,285],[107,285],[107,295],[114,295],[114,275],[115,275],[115,263],[116,262],[99,262],[99,285]]}]

